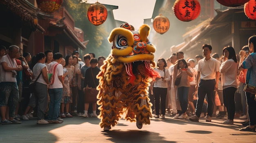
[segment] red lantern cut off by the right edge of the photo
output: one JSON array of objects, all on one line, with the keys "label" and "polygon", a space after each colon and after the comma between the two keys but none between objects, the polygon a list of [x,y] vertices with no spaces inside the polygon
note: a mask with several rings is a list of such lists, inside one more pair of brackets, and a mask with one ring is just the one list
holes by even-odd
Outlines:
[{"label": "red lantern cut off by the right edge of the photo", "polygon": [[245,15],[251,19],[256,20],[256,1],[255,0],[249,0],[249,2],[245,3],[244,11]]}]

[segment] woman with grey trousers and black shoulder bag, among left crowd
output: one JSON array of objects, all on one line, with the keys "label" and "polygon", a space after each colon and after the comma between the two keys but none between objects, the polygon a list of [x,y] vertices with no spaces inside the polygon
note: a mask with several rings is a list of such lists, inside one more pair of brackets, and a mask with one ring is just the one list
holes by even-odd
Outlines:
[{"label": "woman with grey trousers and black shoulder bag, among left crowd", "polygon": [[48,102],[48,93],[47,93],[47,86],[49,85],[49,80],[47,76],[47,67],[45,63],[45,54],[40,52],[36,54],[36,65],[33,67],[33,79],[35,81],[36,78],[39,76],[38,80],[36,81],[36,102],[38,103],[37,107],[37,117],[38,121],[37,124],[49,124],[48,121],[45,121],[45,109]]}]

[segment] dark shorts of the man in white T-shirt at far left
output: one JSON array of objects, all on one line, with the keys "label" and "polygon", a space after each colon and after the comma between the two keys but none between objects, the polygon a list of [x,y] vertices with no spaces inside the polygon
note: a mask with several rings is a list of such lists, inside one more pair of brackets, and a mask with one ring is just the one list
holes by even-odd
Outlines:
[{"label": "dark shorts of the man in white T-shirt at far left", "polygon": [[[0,106],[7,106],[9,98],[11,102],[19,101],[18,85],[16,82],[0,82]],[[10,103],[9,104],[13,104]]]}]

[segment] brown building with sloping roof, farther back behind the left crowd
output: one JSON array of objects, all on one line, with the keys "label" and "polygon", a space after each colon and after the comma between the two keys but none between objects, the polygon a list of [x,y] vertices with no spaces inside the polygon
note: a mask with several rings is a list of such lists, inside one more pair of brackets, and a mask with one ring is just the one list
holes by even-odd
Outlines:
[{"label": "brown building with sloping roof, farther back behind the left crowd", "polygon": [[76,28],[74,19],[68,11],[61,7],[52,17],[45,18],[40,15],[39,24],[45,29],[44,33],[34,33],[34,53],[52,50],[61,52],[63,56],[72,54],[74,50],[85,50],[86,43],[83,39],[83,30]]}]

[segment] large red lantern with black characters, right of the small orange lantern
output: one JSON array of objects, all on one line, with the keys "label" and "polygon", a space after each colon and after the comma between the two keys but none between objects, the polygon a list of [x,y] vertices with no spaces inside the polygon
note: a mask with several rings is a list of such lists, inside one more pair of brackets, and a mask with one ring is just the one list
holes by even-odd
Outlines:
[{"label": "large red lantern with black characters, right of the small orange lantern", "polygon": [[198,17],[201,6],[198,0],[176,0],[173,5],[173,11],[179,20],[190,22]]}]

